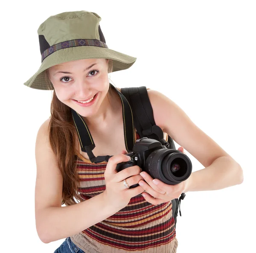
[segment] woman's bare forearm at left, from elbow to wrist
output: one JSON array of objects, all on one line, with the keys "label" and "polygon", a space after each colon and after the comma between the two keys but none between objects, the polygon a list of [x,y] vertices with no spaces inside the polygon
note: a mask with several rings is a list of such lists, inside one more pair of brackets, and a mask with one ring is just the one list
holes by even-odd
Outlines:
[{"label": "woman's bare forearm at left, from elbow to wrist", "polygon": [[50,206],[37,210],[38,236],[44,243],[73,236],[119,210],[104,201],[104,192],[72,206]]}]

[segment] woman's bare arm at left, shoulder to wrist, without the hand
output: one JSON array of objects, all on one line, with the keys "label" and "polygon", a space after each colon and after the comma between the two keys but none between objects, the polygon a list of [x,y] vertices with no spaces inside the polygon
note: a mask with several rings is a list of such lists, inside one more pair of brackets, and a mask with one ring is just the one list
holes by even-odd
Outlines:
[{"label": "woman's bare arm at left, shoulder to wrist, without the hand", "polygon": [[35,146],[37,175],[35,220],[44,243],[73,236],[119,210],[104,201],[104,192],[72,206],[61,206],[63,178],[49,145],[49,119],[38,131]]}]

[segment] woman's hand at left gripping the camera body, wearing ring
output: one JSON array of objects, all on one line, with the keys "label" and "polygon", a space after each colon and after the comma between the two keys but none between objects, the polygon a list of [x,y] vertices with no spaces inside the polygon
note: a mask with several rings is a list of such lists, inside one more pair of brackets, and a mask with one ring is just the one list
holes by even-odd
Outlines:
[{"label": "woman's hand at left gripping the camera body, wearing ring", "polygon": [[108,204],[118,209],[117,212],[127,206],[132,197],[144,192],[141,186],[129,189],[123,183],[123,180],[126,179],[127,184],[132,186],[139,183],[140,180],[144,180],[140,175],[142,169],[139,166],[135,165],[123,169],[120,172],[116,171],[117,163],[128,162],[130,160],[130,157],[125,154],[127,152],[122,151],[122,154],[116,154],[111,157],[108,160],[104,173],[106,190],[103,192],[103,195]]}]

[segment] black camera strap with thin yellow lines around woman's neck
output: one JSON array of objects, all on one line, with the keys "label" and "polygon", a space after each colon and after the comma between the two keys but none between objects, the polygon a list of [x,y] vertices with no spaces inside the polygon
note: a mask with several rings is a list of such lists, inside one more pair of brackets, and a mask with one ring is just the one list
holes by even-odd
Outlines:
[{"label": "black camera strap with thin yellow lines around woman's neck", "polygon": [[[126,151],[131,152],[135,144],[135,135],[134,135],[134,120],[133,114],[131,111],[131,106],[129,105],[125,96],[110,83],[110,88],[116,90],[119,94],[122,102],[122,118],[123,118],[123,127],[124,127],[124,137],[125,137],[125,148]],[[90,130],[84,121],[83,117],[79,115],[76,111],[71,108],[73,121],[76,126],[76,131],[79,137],[79,143],[81,146],[81,151],[88,154],[88,157],[92,163],[101,163],[103,161],[108,162],[111,155],[106,156],[97,156],[95,157],[92,150],[95,148],[95,143],[93,137],[90,134]]]}]

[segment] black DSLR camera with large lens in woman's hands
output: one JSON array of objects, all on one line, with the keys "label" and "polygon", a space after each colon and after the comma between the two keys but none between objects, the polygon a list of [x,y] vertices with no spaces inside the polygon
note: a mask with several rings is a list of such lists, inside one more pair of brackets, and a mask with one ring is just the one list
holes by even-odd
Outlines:
[{"label": "black DSLR camera with large lens in woman's hands", "polygon": [[[188,179],[192,172],[192,163],[186,154],[169,149],[161,142],[147,137],[136,140],[132,152],[126,155],[130,156],[131,160],[118,163],[117,172],[137,165],[151,177],[172,185]],[[139,184],[130,188],[137,186]]]}]

